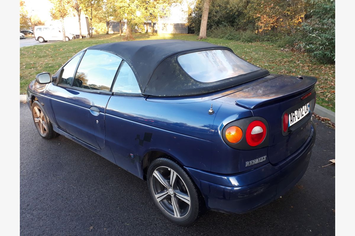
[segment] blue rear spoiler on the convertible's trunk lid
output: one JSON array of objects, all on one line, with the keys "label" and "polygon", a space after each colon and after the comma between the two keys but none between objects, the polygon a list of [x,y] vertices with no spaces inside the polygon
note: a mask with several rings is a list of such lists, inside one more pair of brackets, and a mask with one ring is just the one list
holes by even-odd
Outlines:
[{"label": "blue rear spoiler on the convertible's trunk lid", "polygon": [[271,103],[282,101],[288,97],[294,97],[306,92],[311,92],[317,82],[316,77],[312,76],[299,76],[301,81],[293,86],[285,87],[275,93],[267,93],[256,97],[242,98],[236,100],[236,104],[250,110],[264,107]]}]

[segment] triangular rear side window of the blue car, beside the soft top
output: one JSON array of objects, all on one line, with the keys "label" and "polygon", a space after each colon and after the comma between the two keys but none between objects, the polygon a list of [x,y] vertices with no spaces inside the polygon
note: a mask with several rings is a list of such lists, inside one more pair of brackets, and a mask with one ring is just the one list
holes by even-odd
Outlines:
[{"label": "triangular rear side window of the blue car, beside the soft top", "polygon": [[131,67],[124,62],[117,75],[112,92],[116,93],[141,93],[136,76]]}]

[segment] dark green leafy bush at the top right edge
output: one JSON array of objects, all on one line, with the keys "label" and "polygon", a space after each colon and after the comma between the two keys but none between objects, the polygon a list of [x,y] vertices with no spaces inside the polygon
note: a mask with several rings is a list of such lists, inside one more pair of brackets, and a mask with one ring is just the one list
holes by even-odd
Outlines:
[{"label": "dark green leafy bush at the top right edge", "polygon": [[318,61],[335,62],[335,1],[308,0],[311,4],[311,17],[302,24],[304,34],[301,46]]}]

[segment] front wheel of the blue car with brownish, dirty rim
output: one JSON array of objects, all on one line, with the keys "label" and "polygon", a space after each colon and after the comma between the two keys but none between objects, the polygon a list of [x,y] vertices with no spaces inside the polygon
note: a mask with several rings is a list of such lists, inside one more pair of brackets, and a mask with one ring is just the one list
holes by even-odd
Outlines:
[{"label": "front wheel of the blue car with brownish, dirty rim", "polygon": [[[43,113],[43,116],[38,115],[36,112],[36,109],[40,112],[39,114]],[[35,127],[37,128],[39,135],[45,139],[51,139],[51,138],[56,137],[57,133],[53,130],[53,125],[49,121],[47,114],[44,112],[42,104],[40,104],[38,101],[34,101],[32,103],[31,110],[32,110],[32,119],[33,119]],[[37,116],[39,119],[35,116]],[[42,122],[45,121],[45,126],[47,126],[46,128],[44,128],[45,126],[43,126],[43,123],[42,123],[42,126],[37,125],[37,123],[41,123],[41,121],[39,121],[41,119],[42,119]],[[43,130],[42,130],[43,133],[40,131],[40,129],[41,129],[40,127],[43,128]]]}]

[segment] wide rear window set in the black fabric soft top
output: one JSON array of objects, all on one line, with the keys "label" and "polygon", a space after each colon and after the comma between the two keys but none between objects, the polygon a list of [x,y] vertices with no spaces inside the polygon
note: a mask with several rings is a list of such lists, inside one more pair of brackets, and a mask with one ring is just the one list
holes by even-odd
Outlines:
[{"label": "wide rear window set in the black fabric soft top", "polygon": [[207,50],[180,55],[178,61],[193,79],[211,83],[260,70],[229,50]]}]

